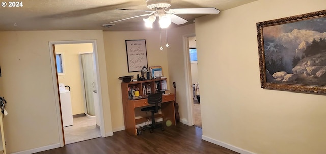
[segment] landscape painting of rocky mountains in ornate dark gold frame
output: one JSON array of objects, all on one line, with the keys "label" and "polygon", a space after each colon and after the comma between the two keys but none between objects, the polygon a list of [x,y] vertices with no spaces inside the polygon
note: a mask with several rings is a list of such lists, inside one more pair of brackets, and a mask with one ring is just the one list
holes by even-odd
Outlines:
[{"label": "landscape painting of rocky mountains in ornate dark gold frame", "polygon": [[256,26],[262,88],[326,93],[326,10]]}]

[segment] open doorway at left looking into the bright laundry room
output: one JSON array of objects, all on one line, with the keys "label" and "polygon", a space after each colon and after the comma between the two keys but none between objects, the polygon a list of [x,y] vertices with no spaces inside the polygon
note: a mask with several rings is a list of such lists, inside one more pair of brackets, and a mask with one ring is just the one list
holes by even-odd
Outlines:
[{"label": "open doorway at left looking into the bright laundry room", "polygon": [[[99,124],[96,123],[93,97],[93,93],[95,93],[93,91],[96,91],[94,77],[96,74],[94,73],[92,43],[57,44],[54,49],[65,144],[100,137],[100,127],[97,127]],[[70,100],[63,97],[60,84],[67,89],[69,88]],[[64,91],[67,90],[64,89]],[[70,114],[64,112],[67,108],[71,110]],[[67,119],[71,119],[72,122],[65,124]]]}]

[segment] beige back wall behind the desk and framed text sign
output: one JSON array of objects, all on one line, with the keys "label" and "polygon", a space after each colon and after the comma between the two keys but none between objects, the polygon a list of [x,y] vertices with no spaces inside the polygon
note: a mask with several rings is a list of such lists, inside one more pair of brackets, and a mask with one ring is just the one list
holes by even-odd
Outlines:
[{"label": "beige back wall behind the desk and framed text sign", "polygon": [[[168,32],[169,33],[169,32]],[[170,33],[168,34],[170,36]],[[172,35],[172,34],[171,34]],[[124,129],[123,120],[123,106],[121,100],[121,82],[118,78],[121,76],[134,75],[136,79],[137,74],[141,72],[128,73],[127,54],[125,40],[146,40],[147,61],[148,66],[161,65],[163,68],[163,75],[169,77],[169,67],[167,60],[167,48],[160,50],[159,32],[103,32],[105,42],[105,58],[107,65],[107,82],[110,92],[111,113],[112,113],[112,127],[114,131]],[[162,44],[165,44],[165,35],[162,36]],[[171,36],[172,38],[172,36]],[[170,40],[172,42],[173,40]],[[170,48],[170,47],[169,47]],[[168,82],[171,80],[168,78]],[[169,83],[168,83],[169,85]],[[170,88],[168,86],[168,88]]]}]

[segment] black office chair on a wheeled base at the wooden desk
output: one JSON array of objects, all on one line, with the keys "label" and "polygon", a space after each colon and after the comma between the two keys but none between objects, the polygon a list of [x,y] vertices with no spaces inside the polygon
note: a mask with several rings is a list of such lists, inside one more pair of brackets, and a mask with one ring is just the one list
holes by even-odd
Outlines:
[{"label": "black office chair on a wheeled base at the wooden desk", "polygon": [[150,107],[145,107],[142,108],[141,111],[145,111],[145,112],[152,112],[152,124],[148,125],[148,126],[144,126],[143,130],[145,129],[150,129],[150,132],[153,133],[153,130],[156,127],[161,127],[161,130],[163,131],[163,125],[160,124],[155,124],[155,116],[154,113],[157,113],[158,110],[161,109],[160,106],[158,106],[159,103],[162,102],[162,93],[154,93],[154,94],[149,94],[148,98],[147,98],[147,102],[148,104],[155,104],[155,106],[150,106]]}]

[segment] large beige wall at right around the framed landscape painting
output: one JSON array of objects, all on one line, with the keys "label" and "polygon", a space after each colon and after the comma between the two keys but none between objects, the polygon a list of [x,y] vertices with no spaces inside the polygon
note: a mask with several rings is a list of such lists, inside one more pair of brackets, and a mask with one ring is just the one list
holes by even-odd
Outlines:
[{"label": "large beige wall at right around the framed landscape painting", "polygon": [[256,33],[257,22],[324,9],[260,0],[196,19],[204,138],[259,154],[325,153],[326,96],[262,89]]}]

